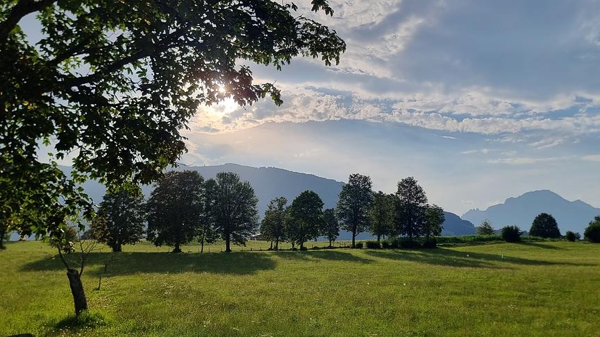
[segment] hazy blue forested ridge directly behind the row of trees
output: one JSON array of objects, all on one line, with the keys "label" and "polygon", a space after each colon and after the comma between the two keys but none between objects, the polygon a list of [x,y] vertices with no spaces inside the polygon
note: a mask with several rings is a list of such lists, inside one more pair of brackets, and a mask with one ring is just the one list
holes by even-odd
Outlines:
[{"label": "hazy blue forested ridge directly behind the row of trees", "polygon": [[[61,169],[70,174],[72,168],[61,166]],[[192,170],[200,173],[205,179],[215,178],[219,172],[233,172],[240,175],[242,180],[247,180],[252,184],[256,196],[258,197],[258,211],[262,217],[267,209],[269,201],[278,196],[284,196],[288,202],[292,202],[302,191],[313,190],[321,196],[324,202],[324,208],[333,208],[338,203],[338,195],[344,186],[343,182],[332,179],[318,177],[317,175],[298,173],[275,167],[251,167],[238,164],[224,164],[216,166],[190,166],[176,168],[178,171]],[[85,182],[82,185],[88,196],[99,203],[106,192],[102,184],[94,180]],[[144,186],[142,191],[148,197],[153,187]],[[462,235],[473,234],[474,226],[468,221],[463,221],[456,214],[445,212],[446,222],[444,222],[443,235]],[[13,235],[12,239],[15,239]],[[351,239],[351,234],[340,231],[340,239]],[[372,239],[368,233],[358,235],[358,239]]]}]

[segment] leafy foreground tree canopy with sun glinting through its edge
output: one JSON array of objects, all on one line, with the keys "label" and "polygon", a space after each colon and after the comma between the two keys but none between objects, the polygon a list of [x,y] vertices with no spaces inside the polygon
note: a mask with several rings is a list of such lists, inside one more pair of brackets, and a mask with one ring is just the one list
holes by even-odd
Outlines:
[{"label": "leafy foreground tree canopy with sun glinting through its edge", "polygon": [[[326,0],[311,3],[333,15]],[[276,0],[2,1],[0,221],[60,237],[69,218],[92,218],[78,182],[156,180],[184,153],[180,130],[199,105],[281,104],[244,64],[279,69],[298,55],[331,64],[345,49],[296,10]],[[24,17],[37,18],[38,42]],[[54,158],[73,156],[73,175],[38,159],[40,144]]]}]

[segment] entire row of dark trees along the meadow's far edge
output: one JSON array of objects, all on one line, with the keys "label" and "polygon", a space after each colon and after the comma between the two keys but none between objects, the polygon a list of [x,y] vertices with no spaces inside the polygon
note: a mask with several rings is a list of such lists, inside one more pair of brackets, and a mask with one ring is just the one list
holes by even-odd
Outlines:
[{"label": "entire row of dark trees along the meadow's far edge", "polygon": [[352,233],[352,248],[362,247],[356,235],[367,231],[377,237],[378,246],[387,236],[401,244],[388,240],[384,246],[431,247],[444,223],[443,209],[428,205],[424,189],[412,177],[401,180],[396,193],[387,194],[373,191],[369,176],[352,174],[335,209],[323,209],[315,191],[303,191],[289,203],[283,196],[271,200],[260,223],[257,205],[250,183],[235,173],[204,180],[196,171],[172,171],[158,180],[145,202],[139,190],[108,191],[87,236],[115,252],[144,234],[173,252],[192,241],[198,241],[203,252],[205,243],[218,240],[231,252],[231,245],[245,245],[251,238],[271,241],[272,250],[281,242],[306,250],[305,243],[319,237],[328,239],[331,247],[340,230]]}]

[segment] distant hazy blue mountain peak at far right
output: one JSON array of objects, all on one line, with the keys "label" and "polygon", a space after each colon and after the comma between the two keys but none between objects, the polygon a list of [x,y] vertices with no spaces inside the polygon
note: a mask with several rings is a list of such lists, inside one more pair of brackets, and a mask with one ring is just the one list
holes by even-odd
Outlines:
[{"label": "distant hazy blue mountain peak at far right", "polygon": [[517,225],[522,230],[529,230],[533,219],[540,213],[552,214],[562,234],[567,230],[583,234],[594,216],[600,215],[600,209],[581,200],[569,201],[553,191],[541,190],[508,198],[502,204],[490,206],[485,211],[472,209],[463,214],[462,218],[476,225],[487,218],[495,228]]}]

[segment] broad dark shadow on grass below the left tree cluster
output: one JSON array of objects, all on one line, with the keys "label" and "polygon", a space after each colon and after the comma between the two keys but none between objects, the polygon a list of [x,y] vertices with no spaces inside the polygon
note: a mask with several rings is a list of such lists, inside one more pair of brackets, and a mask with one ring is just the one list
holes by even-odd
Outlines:
[{"label": "broad dark shadow on grass below the left tree cluster", "polygon": [[[260,270],[272,270],[276,261],[271,254],[253,252],[172,254],[167,252],[93,252],[88,256],[84,273],[98,275],[103,268],[88,268],[108,264],[106,276],[136,273],[213,273],[249,275]],[[63,270],[58,256],[48,257],[23,266],[22,270]]]}]

